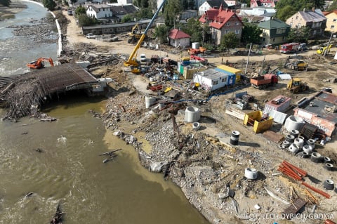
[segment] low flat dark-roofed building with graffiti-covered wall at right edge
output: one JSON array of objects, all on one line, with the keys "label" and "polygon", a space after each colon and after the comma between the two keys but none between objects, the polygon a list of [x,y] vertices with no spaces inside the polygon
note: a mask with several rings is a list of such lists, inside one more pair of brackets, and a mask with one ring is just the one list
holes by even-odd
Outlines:
[{"label": "low flat dark-roofed building with graffiti-covered wall at right edge", "polygon": [[298,103],[294,115],[317,126],[319,133],[331,137],[336,133],[337,95],[319,91],[312,98],[305,98]]}]

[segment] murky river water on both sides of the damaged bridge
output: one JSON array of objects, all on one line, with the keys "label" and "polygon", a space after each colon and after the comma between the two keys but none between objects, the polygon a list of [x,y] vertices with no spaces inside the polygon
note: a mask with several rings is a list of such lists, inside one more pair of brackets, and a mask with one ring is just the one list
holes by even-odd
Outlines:
[{"label": "murky river water on both sides of the damaged bridge", "polygon": [[[13,20],[0,21],[0,76],[27,71],[32,57],[56,58],[56,44],[34,48],[4,28],[49,16],[25,4]],[[66,95],[43,108],[57,121],[0,121],[0,223],[48,223],[59,203],[64,223],[208,223],[176,185],[140,166],[133,147],[88,112],[103,108],[104,98]],[[103,163],[100,153],[119,148]]]}]

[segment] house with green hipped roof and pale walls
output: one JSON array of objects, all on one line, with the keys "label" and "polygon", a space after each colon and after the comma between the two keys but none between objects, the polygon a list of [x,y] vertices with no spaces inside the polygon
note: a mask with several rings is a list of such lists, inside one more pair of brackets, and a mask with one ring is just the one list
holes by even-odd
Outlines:
[{"label": "house with green hipped roof and pale walls", "polygon": [[258,27],[262,29],[261,44],[265,45],[286,43],[286,37],[288,37],[290,32],[290,25],[275,18],[260,22]]}]

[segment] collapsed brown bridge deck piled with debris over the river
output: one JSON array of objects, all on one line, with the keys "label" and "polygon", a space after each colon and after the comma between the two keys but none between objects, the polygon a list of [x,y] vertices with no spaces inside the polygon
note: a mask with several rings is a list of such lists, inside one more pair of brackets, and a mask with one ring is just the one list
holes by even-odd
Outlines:
[{"label": "collapsed brown bridge deck piled with debris over the river", "polygon": [[32,70],[16,79],[0,79],[8,81],[6,86],[0,86],[0,103],[9,108],[5,119],[37,116],[40,103],[54,93],[76,89],[91,91],[100,86],[98,79],[75,63]]}]

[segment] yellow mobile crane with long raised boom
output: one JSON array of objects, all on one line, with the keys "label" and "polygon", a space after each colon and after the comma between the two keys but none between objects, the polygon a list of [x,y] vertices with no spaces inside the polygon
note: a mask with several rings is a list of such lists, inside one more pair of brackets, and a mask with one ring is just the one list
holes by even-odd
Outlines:
[{"label": "yellow mobile crane with long raised boom", "polygon": [[138,40],[138,43],[136,44],[135,48],[133,48],[133,51],[132,51],[131,55],[128,57],[128,60],[124,61],[124,66],[131,67],[131,72],[132,73],[140,73],[141,72],[141,70],[140,70],[140,62],[138,62],[138,60],[137,60],[138,49],[140,48],[140,45],[143,43],[143,40],[146,37],[147,31],[152,26],[152,23],[154,22],[154,19],[157,17],[157,15],[158,15],[159,11],[161,10],[161,8],[163,8],[165,2],[166,2],[166,0],[163,0],[163,2],[161,3],[161,5],[157,9],[156,13],[154,13],[151,21],[147,25],[145,31],[140,36],[140,39]]}]

